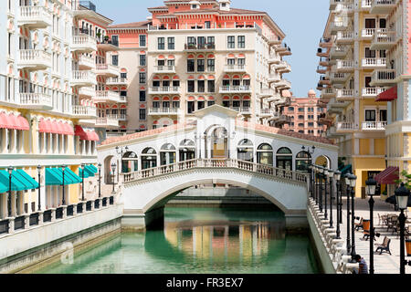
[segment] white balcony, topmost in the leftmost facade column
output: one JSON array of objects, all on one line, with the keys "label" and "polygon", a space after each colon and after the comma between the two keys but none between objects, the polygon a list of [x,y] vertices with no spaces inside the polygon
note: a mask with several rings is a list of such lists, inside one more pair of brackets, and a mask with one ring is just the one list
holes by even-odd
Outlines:
[{"label": "white balcony, topmost in the leftmost facade column", "polygon": [[26,26],[29,29],[41,29],[53,24],[51,14],[44,6],[20,6],[19,8],[18,26]]}]

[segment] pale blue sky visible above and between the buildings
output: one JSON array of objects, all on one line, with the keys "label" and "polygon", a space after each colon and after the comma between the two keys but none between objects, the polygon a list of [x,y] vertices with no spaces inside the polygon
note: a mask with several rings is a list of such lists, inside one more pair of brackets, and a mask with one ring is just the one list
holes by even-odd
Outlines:
[{"label": "pale blue sky visible above and between the buildings", "polygon": [[[145,20],[147,7],[163,5],[163,0],[91,0],[97,11],[114,20],[114,24]],[[329,0],[232,0],[236,8],[267,11],[287,35],[285,43],[292,55],[285,57],[292,72],[285,74],[292,83],[294,96],[305,97],[316,89],[320,75],[315,71],[316,56],[329,13]]]}]

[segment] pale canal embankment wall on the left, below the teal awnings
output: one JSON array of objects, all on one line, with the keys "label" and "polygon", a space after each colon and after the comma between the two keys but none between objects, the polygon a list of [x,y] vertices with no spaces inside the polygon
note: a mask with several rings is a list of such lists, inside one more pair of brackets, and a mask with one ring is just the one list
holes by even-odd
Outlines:
[{"label": "pale canal embankment wall on the left, below the teal awnings", "polygon": [[8,218],[7,231],[0,235],[0,273],[69,261],[76,250],[120,233],[122,210],[111,196],[39,212],[33,223],[29,214],[18,226],[16,218]]}]

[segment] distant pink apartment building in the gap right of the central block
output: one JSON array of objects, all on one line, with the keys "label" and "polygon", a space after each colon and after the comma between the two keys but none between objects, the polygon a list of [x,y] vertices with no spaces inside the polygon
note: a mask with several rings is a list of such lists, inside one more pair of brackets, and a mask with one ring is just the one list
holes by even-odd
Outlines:
[{"label": "distant pink apartment building in the gap right of the central block", "polygon": [[291,121],[284,125],[284,130],[291,130],[302,134],[321,136],[326,126],[319,123],[325,109],[321,107],[320,98],[314,90],[308,92],[307,98],[291,98],[291,105],[284,108],[284,115]]}]

